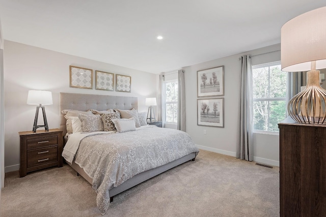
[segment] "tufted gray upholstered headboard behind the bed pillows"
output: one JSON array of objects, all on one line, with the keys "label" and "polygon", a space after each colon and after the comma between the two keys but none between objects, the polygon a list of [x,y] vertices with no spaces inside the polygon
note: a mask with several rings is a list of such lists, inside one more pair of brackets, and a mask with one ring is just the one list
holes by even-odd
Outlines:
[{"label": "tufted gray upholstered headboard behind the bed pillows", "polygon": [[70,94],[68,92],[60,93],[60,130],[66,135],[66,118],[61,113],[64,109],[73,109],[78,111],[88,111],[96,109],[98,111],[107,109],[138,109],[137,97],[118,97],[107,95],[92,94]]}]

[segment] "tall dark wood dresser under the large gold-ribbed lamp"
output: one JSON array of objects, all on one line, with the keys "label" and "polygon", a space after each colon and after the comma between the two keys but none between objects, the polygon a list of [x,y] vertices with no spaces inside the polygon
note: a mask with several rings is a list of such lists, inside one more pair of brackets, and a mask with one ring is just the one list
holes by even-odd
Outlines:
[{"label": "tall dark wood dresser under the large gold-ribbed lamp", "polygon": [[326,125],[280,129],[280,216],[326,216]]}]

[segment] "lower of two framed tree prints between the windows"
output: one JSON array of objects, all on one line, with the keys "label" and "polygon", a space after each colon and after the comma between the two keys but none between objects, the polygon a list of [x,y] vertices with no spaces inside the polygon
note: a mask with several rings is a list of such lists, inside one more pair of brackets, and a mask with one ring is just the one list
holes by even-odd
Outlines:
[{"label": "lower of two framed tree prints between the windows", "polygon": [[224,98],[197,99],[197,125],[224,128]]}]

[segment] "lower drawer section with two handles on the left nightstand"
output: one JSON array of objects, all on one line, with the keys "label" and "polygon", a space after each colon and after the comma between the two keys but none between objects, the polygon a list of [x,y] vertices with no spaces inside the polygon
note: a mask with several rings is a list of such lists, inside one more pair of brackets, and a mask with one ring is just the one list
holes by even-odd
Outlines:
[{"label": "lower drawer section with two handles on the left nightstand", "polygon": [[58,161],[58,146],[27,151],[27,167]]}]

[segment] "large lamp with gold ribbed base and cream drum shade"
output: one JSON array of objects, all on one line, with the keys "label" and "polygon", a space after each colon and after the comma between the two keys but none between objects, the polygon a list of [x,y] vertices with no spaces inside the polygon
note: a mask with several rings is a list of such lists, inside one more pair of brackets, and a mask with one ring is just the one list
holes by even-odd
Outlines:
[{"label": "large lamp with gold ribbed base and cream drum shade", "polygon": [[325,124],[326,90],[320,86],[318,69],[326,68],[326,7],[299,15],[281,28],[281,68],[307,72],[305,90],[288,103],[296,122]]}]

